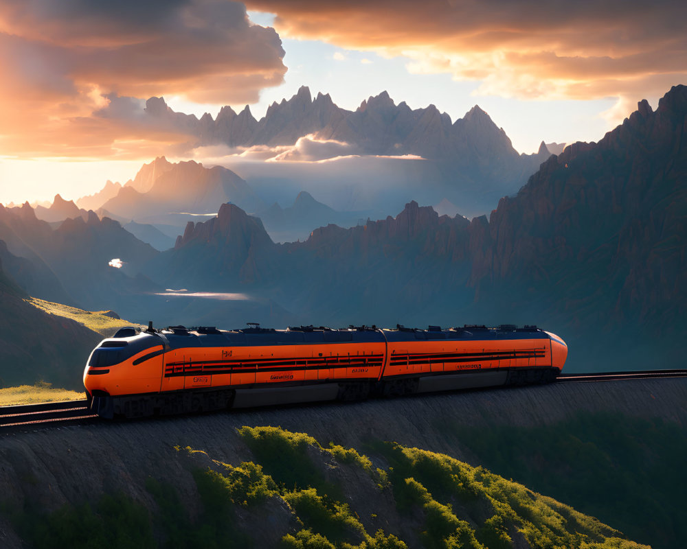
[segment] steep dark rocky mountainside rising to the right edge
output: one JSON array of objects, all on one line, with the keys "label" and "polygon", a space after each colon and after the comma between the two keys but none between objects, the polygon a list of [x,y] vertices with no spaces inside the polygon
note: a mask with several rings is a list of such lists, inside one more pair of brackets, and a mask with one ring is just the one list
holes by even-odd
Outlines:
[{"label": "steep dark rocky mountainside rising to the right edge", "polygon": [[491,215],[471,283],[556,287],[570,310],[561,284],[574,277],[590,300],[602,285],[607,323],[666,327],[687,305],[686,128],[687,88],[676,86],[655,113],[640,102],[599,143],[552,156]]}]

